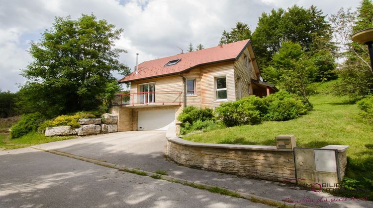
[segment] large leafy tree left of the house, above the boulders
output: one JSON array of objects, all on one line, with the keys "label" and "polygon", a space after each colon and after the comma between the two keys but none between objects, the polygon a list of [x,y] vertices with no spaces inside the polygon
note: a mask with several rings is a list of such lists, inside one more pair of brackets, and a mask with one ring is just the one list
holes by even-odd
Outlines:
[{"label": "large leafy tree left of the house, above the boulders", "polygon": [[28,82],[18,104],[48,116],[107,105],[102,98],[109,97],[103,96],[106,90],[113,92],[109,83],[117,86],[111,71],[125,68],[117,58],[126,51],[114,48],[122,31],[93,14],[56,17],[41,40],[31,43],[33,62],[22,72]]}]

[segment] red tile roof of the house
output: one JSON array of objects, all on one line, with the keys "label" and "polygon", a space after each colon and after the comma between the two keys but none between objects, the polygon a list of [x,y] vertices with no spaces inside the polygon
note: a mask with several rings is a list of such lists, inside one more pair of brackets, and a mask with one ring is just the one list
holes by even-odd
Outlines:
[{"label": "red tile roof of the house", "polygon": [[[181,53],[155,60],[144,61],[139,64],[136,74],[132,72],[119,80],[119,83],[126,83],[136,80],[149,79],[181,73],[200,65],[236,60],[244,51],[250,40],[238,41],[231,44],[202,49],[194,52]],[[177,64],[165,66],[171,60],[181,59]]]}]

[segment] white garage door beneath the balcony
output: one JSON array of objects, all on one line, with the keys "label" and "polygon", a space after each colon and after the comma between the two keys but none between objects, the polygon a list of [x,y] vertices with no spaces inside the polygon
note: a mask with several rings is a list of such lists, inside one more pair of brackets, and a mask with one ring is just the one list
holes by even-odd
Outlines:
[{"label": "white garage door beneath the balcony", "polygon": [[175,109],[138,111],[137,130],[166,131],[175,123]]}]

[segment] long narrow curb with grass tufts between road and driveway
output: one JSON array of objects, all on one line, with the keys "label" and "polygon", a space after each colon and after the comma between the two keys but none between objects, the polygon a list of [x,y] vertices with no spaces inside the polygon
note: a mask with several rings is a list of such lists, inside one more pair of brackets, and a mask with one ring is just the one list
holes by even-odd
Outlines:
[{"label": "long narrow curb with grass tufts between road and driveway", "polygon": [[[180,183],[180,184],[200,185],[200,186],[206,187],[207,189],[218,187],[218,186],[213,186],[213,185],[209,185],[209,184],[199,183],[197,181],[188,181],[188,180],[185,180],[185,179],[176,178],[176,177],[169,176],[169,175],[159,175],[155,172],[140,170],[140,169],[127,167],[127,166],[122,166],[122,165],[116,165],[116,164],[112,164],[112,163],[109,163],[109,162],[105,162],[105,161],[101,161],[101,160],[97,160],[97,159],[93,159],[93,158],[76,156],[76,155],[73,155],[73,154],[70,154],[70,153],[65,153],[65,152],[61,152],[61,151],[57,151],[57,150],[45,150],[45,149],[42,149],[42,148],[37,147],[37,146],[30,146],[30,148],[35,149],[35,150],[39,150],[39,151],[52,153],[52,154],[55,154],[55,155],[67,156],[67,157],[70,157],[70,158],[79,159],[79,160],[83,160],[83,161],[86,161],[86,162],[91,162],[93,164],[97,164],[97,165],[101,165],[101,166],[105,166],[105,167],[110,167],[110,168],[126,171],[126,172],[129,172],[129,173],[137,174],[136,172],[143,172],[144,176],[157,177],[159,179],[163,179],[163,180],[166,180],[166,181],[169,181],[169,182],[177,182],[177,183]],[[223,188],[223,187],[218,187],[218,188],[227,190],[229,192],[236,193],[236,194],[240,195],[242,198],[250,200],[250,201],[264,201],[264,202],[268,202],[268,203],[280,203],[280,204],[282,204],[284,206],[287,206],[287,207],[295,207],[296,206],[296,207],[299,207],[299,208],[311,208],[310,206],[299,205],[299,204],[288,205],[288,204],[284,204],[282,201],[273,200],[273,199],[269,199],[269,198],[266,198],[266,197],[260,197],[260,196],[253,195],[253,194],[247,194],[247,193],[243,193],[243,192],[240,192],[240,191],[234,191],[234,190]],[[262,204],[267,204],[267,203],[262,203]]]}]

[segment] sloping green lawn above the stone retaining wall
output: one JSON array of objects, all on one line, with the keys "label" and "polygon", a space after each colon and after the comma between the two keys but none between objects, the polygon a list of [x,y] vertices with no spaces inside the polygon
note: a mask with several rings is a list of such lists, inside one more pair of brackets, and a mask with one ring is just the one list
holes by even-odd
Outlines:
[{"label": "sloping green lawn above the stone retaining wall", "polygon": [[373,180],[373,123],[359,117],[356,104],[328,94],[326,91],[330,85],[331,82],[326,82],[318,88],[320,93],[310,98],[314,109],[300,118],[217,129],[187,135],[183,139],[201,143],[275,146],[275,136],[294,134],[297,147],[349,145],[346,176],[366,183],[364,177]]}]

